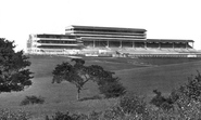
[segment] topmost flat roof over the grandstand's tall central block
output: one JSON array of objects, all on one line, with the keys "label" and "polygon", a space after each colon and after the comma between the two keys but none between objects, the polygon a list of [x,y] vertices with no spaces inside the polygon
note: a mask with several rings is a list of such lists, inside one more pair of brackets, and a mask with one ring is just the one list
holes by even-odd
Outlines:
[{"label": "topmost flat roof over the grandstand's tall central block", "polygon": [[147,31],[146,29],[141,28],[120,28],[120,27],[99,27],[99,26],[77,26],[72,25],[71,28],[83,28],[83,29],[99,29],[99,30],[117,30],[117,31]]}]

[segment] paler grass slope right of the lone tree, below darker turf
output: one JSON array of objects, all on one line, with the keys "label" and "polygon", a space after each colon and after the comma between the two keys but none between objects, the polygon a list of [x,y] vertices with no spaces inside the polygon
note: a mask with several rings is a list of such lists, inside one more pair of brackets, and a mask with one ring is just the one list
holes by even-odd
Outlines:
[{"label": "paler grass slope right of the lone tree, below darker turf", "polygon": [[162,93],[169,93],[173,89],[187,82],[188,77],[197,75],[197,70],[201,71],[200,61],[116,70],[116,75],[122,78],[127,90],[149,96],[152,95],[154,89]]}]

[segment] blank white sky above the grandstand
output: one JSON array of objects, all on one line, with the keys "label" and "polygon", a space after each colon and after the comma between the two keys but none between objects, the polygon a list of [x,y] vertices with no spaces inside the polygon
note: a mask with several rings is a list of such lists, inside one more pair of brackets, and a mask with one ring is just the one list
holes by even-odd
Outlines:
[{"label": "blank white sky above the grandstand", "polygon": [[200,0],[0,0],[0,38],[26,51],[30,34],[70,25],[147,29],[148,39],[194,40],[201,50]]}]

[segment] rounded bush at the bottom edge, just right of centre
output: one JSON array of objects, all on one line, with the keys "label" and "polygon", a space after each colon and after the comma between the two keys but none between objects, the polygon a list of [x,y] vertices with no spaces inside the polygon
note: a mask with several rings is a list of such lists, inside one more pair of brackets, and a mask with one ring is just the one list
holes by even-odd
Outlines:
[{"label": "rounded bush at the bottom edge, just right of centre", "polygon": [[149,117],[143,97],[134,93],[125,94],[115,106],[96,115],[96,120],[147,120]]}]

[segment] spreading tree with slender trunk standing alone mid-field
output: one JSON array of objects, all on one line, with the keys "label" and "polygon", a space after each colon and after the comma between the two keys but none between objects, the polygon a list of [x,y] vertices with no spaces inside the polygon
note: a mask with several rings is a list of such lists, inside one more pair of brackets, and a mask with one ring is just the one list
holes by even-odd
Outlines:
[{"label": "spreading tree with slender trunk standing alone mid-field", "polygon": [[[65,62],[61,65],[58,65],[53,70],[53,79],[52,83],[61,83],[61,81],[66,80],[77,88],[77,99],[79,99],[79,93],[85,83],[89,80],[95,81],[99,85],[99,90],[102,94],[106,97],[109,96],[120,96],[125,89],[120,84],[116,78],[113,78],[113,74],[111,71],[104,70],[101,66],[91,65],[91,66],[84,66],[85,61],[80,58],[73,58],[72,62],[75,62],[74,65]],[[109,88],[115,86],[114,89]],[[120,89],[121,86],[121,89]],[[104,89],[104,90],[103,90]],[[110,91],[110,92],[109,92]],[[121,92],[120,94],[115,93],[115,95],[108,95],[105,93],[111,92]]]}]

